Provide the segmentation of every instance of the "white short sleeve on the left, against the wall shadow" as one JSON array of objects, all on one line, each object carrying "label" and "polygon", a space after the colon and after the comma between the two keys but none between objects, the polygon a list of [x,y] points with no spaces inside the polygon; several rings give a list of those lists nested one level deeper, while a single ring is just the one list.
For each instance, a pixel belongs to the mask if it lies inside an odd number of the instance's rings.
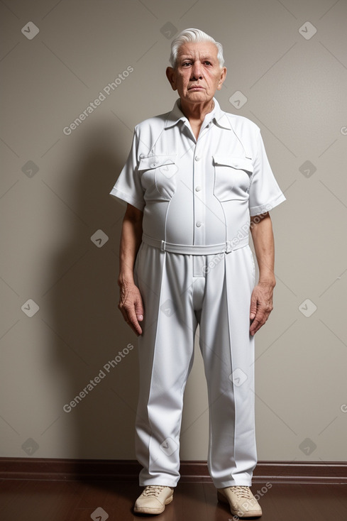
[{"label": "white short sleeve on the left, against the wall shadow", "polygon": [[116,199],[119,199],[119,202],[132,204],[133,207],[136,207],[142,212],[145,207],[145,200],[143,198],[141,178],[138,175],[137,148],[138,137],[135,129],[128,160],[110,194],[116,197]]}]

